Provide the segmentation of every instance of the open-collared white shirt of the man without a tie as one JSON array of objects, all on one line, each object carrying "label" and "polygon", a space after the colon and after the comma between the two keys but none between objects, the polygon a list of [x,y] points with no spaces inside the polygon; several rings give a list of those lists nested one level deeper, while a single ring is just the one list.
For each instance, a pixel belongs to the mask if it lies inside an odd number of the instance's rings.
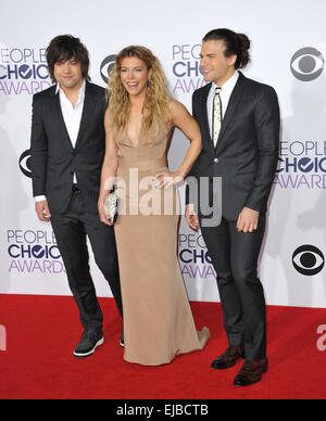
[{"label": "open-collared white shirt of the man without a tie", "polygon": [[[60,95],[61,111],[62,111],[65,127],[68,132],[73,148],[76,146],[76,142],[78,138],[82,114],[84,109],[84,101],[85,101],[85,91],[86,91],[86,81],[84,80],[82,88],[78,91],[78,101],[74,107],[71,100],[66,97],[64,91],[61,89],[60,85],[59,84],[57,85],[55,94]],[[77,183],[76,174],[74,174],[74,183]],[[41,202],[46,200],[47,197],[43,195],[35,197],[36,202]]]}]

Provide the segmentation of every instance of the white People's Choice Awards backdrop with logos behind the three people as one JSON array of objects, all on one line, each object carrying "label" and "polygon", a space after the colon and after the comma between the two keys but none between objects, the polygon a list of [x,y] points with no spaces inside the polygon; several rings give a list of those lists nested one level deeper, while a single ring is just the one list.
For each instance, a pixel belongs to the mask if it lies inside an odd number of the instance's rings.
[{"label": "white People's Choice Awards backdrop with logos behind the three people", "polygon": [[[203,85],[201,39],[227,27],[250,37],[252,63],[244,74],[272,85],[281,109],[279,167],[260,265],[266,301],[326,306],[325,0],[16,0],[0,10],[0,293],[70,294],[51,227],[36,218],[30,186],[30,105],[34,93],[51,86],[49,41],[61,34],[80,37],[92,81],[103,87],[122,48],[147,46],[160,58],[173,97],[191,111],[191,94]],[[176,131],[172,169],[187,145]],[[185,220],[179,261],[190,299],[218,301],[205,244]],[[92,257],[91,268],[98,295],[111,296]]]}]

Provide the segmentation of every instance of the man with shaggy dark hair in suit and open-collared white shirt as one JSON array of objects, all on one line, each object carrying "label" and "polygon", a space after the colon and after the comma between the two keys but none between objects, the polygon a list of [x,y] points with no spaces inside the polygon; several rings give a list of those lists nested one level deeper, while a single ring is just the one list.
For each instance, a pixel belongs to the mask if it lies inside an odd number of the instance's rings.
[{"label": "man with shaggy dark hair in suit and open-collared white shirt", "polygon": [[47,61],[57,85],[33,99],[33,191],[39,219],[51,220],[79,308],[84,334],[74,355],[87,357],[104,342],[87,237],[123,315],[114,231],[98,215],[105,152],[105,92],[89,82],[88,51],[78,38],[54,38],[47,49]]}]

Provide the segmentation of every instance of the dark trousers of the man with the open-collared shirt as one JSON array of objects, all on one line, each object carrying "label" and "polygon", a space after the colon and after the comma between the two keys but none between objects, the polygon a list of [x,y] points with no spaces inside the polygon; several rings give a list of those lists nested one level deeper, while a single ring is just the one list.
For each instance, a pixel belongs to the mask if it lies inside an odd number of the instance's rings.
[{"label": "dark trousers of the man with the open-collared shirt", "polygon": [[51,224],[82,324],[85,330],[101,331],[103,315],[90,275],[87,237],[95,260],[109,282],[118,312],[123,316],[114,229],[102,224],[98,215],[87,214],[80,193],[73,192],[68,209],[64,215],[52,215]]}]

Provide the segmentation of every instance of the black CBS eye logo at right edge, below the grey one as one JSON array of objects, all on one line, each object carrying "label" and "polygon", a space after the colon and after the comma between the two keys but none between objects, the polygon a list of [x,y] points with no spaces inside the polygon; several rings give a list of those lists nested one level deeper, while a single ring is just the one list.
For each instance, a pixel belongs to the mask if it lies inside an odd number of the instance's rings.
[{"label": "black CBS eye logo at right edge, below the grey one", "polygon": [[296,250],[292,264],[299,273],[313,277],[323,270],[325,257],[317,247],[306,244]]}]

